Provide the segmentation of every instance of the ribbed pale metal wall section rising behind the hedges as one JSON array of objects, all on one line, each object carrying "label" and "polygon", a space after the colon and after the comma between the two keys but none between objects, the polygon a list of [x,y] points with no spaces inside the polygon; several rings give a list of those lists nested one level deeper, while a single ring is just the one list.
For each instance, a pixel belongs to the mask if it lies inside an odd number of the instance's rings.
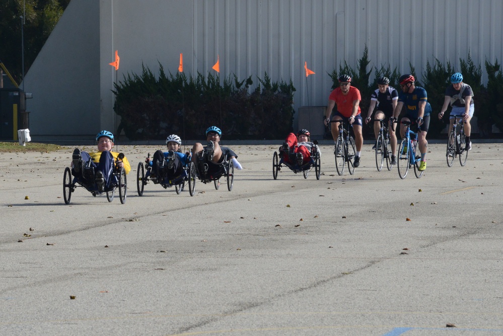
[{"label": "ribbed pale metal wall section rising behind the hedges", "polygon": [[[294,81],[296,107],[308,104],[306,85],[310,105],[325,105],[327,73],[356,69],[365,46],[370,66],[401,73],[436,58],[458,68],[469,52],[482,68],[503,59],[502,14],[501,0],[194,0],[193,65],[207,72],[220,54],[221,76],[267,72]],[[307,84],[304,61],[316,72]]]}]

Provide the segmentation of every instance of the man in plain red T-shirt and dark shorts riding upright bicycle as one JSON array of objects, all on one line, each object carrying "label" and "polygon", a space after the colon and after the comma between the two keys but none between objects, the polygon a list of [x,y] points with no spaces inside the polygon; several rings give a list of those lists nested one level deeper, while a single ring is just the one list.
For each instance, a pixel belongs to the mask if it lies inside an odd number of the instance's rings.
[{"label": "man in plain red T-shirt and dark shorts riding upright bicycle", "polygon": [[[330,93],[328,97],[327,113],[325,125],[328,125],[330,120],[340,121],[346,120],[353,125],[354,142],[356,145],[356,155],[354,157],[353,166],[360,166],[360,155],[363,145],[362,135],[362,111],[360,110],[360,101],[362,96],[360,90],[351,86],[351,77],[348,75],[339,76],[339,87]],[[337,110],[332,113],[332,109],[337,104]],[[332,122],[332,137],[334,142],[337,142],[339,137],[339,122]]]}]

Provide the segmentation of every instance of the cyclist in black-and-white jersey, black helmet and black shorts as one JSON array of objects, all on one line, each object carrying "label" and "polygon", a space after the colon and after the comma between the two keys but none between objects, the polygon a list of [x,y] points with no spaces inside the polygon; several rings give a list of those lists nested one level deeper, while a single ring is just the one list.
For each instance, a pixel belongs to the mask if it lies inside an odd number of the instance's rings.
[{"label": "cyclist in black-and-white jersey, black helmet and black shorts", "polygon": [[[391,164],[396,165],[396,133],[392,130],[391,121],[396,123],[393,117],[393,110],[395,109],[396,103],[398,101],[398,91],[395,88],[389,86],[390,80],[387,77],[379,77],[377,79],[378,89],[372,93],[370,98],[370,107],[365,123],[369,123],[372,118],[372,112],[377,104],[377,111],[374,119],[389,119],[388,122],[388,132],[390,135],[390,145],[391,145]],[[374,121],[374,133],[376,135],[376,143],[372,149],[376,149],[377,146],[377,136],[379,135],[380,124],[379,121]],[[393,125],[393,129],[396,129],[396,125]]]}]

